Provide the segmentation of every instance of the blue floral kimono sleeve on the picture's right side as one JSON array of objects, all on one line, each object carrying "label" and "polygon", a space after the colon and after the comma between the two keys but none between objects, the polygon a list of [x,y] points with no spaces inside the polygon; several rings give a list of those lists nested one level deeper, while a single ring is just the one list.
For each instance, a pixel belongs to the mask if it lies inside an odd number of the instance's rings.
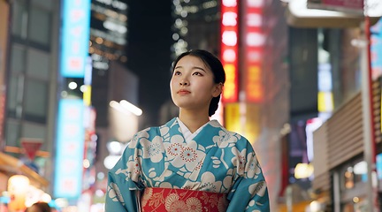
[{"label": "blue floral kimono sleeve on the picture's right side", "polygon": [[268,188],[250,144],[247,146],[247,153],[244,170],[237,173],[231,193],[228,193],[230,203],[227,211],[269,212]]}]

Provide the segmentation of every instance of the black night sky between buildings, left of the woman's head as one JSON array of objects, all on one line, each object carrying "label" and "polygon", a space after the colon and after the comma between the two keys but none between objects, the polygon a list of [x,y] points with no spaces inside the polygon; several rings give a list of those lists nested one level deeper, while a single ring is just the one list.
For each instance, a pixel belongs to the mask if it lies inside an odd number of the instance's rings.
[{"label": "black night sky between buildings, left of the woman's head", "polygon": [[159,125],[161,105],[170,99],[171,1],[128,0],[127,68],[139,77],[140,128]]}]

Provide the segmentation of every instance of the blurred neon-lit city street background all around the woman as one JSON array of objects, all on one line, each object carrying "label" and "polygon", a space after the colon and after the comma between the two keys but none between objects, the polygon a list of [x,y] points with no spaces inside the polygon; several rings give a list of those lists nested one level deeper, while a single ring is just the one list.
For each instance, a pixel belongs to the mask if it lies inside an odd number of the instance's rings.
[{"label": "blurred neon-lit city street background all around the woman", "polygon": [[381,0],[0,0],[0,212],[105,211],[134,134],[179,115],[190,49],[222,62],[210,118],[252,144],[272,212],[382,211],[381,17]]}]

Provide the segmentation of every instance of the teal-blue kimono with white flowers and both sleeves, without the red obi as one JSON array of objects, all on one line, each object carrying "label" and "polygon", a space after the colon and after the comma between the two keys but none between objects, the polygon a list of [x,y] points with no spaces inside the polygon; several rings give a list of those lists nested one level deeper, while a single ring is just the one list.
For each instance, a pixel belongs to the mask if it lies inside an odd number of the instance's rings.
[{"label": "teal-blue kimono with white flowers and both sleeves, without the red obi", "polygon": [[139,211],[145,187],[226,193],[227,211],[270,211],[268,189],[247,139],[211,120],[189,142],[177,118],[134,135],[109,171],[106,211]]}]

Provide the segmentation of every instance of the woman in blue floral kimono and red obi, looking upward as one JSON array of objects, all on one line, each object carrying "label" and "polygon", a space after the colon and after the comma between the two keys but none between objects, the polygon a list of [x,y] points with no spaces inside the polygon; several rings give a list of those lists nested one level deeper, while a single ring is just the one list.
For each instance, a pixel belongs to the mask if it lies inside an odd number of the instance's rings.
[{"label": "woman in blue floral kimono and red obi, looking upward", "polygon": [[210,120],[225,83],[218,58],[190,50],[172,72],[179,117],[134,135],[109,171],[106,211],[270,211],[251,144]]}]

